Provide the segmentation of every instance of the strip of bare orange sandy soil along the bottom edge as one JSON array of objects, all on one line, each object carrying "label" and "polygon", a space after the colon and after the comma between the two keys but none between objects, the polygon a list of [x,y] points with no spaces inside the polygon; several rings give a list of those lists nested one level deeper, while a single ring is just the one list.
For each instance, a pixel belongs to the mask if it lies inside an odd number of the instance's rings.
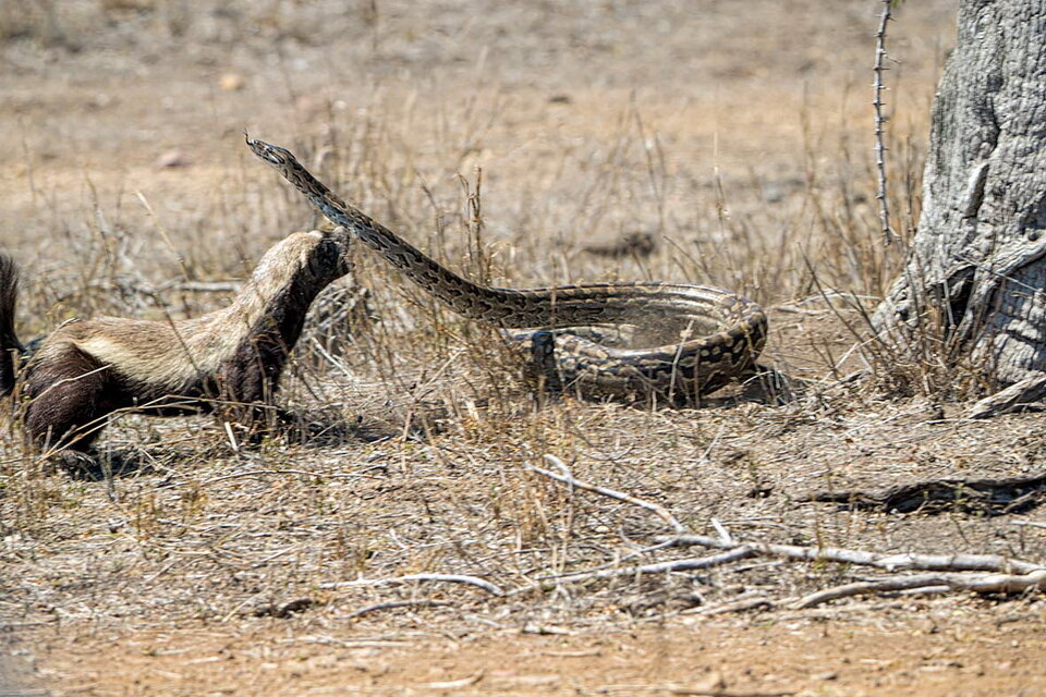
[{"label": "strip of bare orange sandy soil along the bottom edge", "polygon": [[[1041,695],[1041,610],[893,602],[874,622],[332,635],[312,623],[39,636],[57,695]],[[867,610],[866,608],[863,610]],[[860,612],[860,610],[859,610]],[[985,615],[994,615],[985,622]]]}]

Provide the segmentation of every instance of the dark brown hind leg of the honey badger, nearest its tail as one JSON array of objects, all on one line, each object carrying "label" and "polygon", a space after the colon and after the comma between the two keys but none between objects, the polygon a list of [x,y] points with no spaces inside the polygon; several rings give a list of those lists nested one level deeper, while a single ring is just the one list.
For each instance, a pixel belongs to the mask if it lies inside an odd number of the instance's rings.
[{"label": "dark brown hind leg of the honey badger, nearest its tail", "polygon": [[105,416],[110,370],[72,344],[31,363],[25,380],[25,429],[35,444],[69,469],[97,464],[90,454]]}]

